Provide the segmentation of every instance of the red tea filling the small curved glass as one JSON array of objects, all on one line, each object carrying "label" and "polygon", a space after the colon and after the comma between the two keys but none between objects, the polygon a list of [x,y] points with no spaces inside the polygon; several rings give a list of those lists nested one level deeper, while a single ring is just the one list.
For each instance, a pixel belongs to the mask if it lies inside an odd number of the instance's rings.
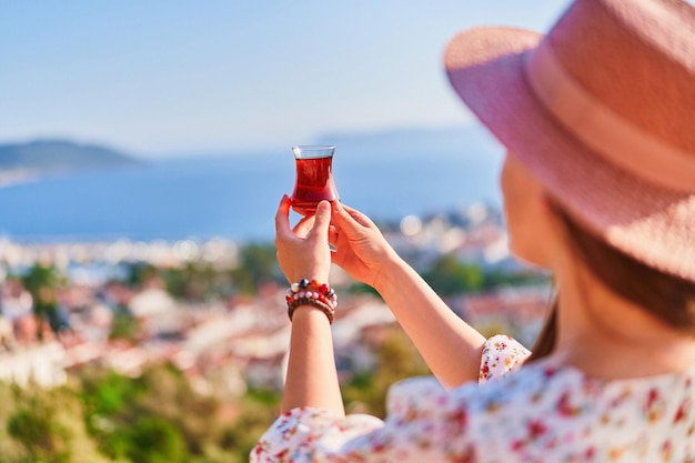
[{"label": "red tea filling the small curved glass", "polygon": [[296,181],[292,193],[292,209],[299,214],[314,213],[322,200],[338,200],[333,181],[333,158],[295,159]]}]

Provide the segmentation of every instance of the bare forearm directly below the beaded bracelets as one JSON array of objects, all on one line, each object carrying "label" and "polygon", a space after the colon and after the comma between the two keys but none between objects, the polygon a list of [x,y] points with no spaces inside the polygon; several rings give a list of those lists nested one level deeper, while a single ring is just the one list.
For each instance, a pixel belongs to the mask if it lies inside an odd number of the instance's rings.
[{"label": "bare forearm directly below the beaded bracelets", "polygon": [[290,360],[282,411],[313,406],[344,415],[331,325],[323,312],[300,306],[292,316]]}]

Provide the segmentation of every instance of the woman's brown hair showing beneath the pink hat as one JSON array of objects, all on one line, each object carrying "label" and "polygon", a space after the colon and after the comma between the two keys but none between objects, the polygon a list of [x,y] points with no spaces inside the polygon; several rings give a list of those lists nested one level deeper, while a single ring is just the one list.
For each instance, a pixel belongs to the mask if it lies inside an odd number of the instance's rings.
[{"label": "woman's brown hair showing beneath the pink hat", "polygon": [[[557,204],[553,204],[553,210],[566,230],[576,259],[611,291],[667,325],[695,336],[695,282],[659,272],[625,255],[577,225]],[[526,362],[540,360],[553,351],[557,310],[555,296]]]}]

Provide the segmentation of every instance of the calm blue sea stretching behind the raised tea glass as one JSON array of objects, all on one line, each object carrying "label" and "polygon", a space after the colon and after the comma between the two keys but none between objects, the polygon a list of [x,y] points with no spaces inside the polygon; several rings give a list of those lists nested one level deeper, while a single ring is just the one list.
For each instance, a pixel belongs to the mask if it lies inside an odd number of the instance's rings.
[{"label": "calm blue sea stretching behind the raised tea glass", "polygon": [[[473,202],[498,205],[501,154],[474,151],[353,155],[339,148],[333,172],[341,200],[376,221]],[[273,239],[278,202],[293,182],[289,149],[66,174],[0,188],[0,235],[20,242],[265,242]]]}]

